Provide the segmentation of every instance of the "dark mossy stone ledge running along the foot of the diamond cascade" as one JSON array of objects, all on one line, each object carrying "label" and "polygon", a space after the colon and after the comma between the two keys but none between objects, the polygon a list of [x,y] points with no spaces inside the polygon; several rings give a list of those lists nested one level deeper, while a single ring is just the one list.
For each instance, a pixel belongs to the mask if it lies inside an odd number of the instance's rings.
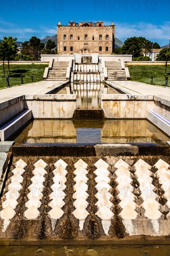
[{"label": "dark mossy stone ledge running along the foot of the diamond cascade", "polygon": [[159,238],[143,238],[137,236],[135,238],[109,238],[109,239],[0,239],[0,246],[27,246],[27,245],[170,245],[170,239],[159,237]]}]

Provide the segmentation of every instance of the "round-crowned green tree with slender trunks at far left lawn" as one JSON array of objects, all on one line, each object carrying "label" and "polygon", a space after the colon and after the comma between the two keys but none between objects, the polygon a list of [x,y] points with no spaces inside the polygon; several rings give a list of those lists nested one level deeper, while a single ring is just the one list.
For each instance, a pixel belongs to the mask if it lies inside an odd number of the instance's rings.
[{"label": "round-crowned green tree with slender trunks at far left lawn", "polygon": [[3,37],[3,40],[1,42],[0,56],[2,56],[3,58],[3,64],[5,59],[8,61],[8,74],[10,74],[9,61],[15,58],[15,55],[17,54],[18,51],[16,40],[16,37],[13,38],[12,36],[9,36],[8,38]]}]

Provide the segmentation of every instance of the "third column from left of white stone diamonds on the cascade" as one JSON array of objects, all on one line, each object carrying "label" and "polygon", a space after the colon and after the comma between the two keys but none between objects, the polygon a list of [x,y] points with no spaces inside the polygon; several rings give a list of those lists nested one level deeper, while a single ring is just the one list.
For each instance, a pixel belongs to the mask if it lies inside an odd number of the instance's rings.
[{"label": "third column from left of white stone diamonds on the cascade", "polygon": [[54,167],[55,169],[52,171],[52,181],[54,183],[51,186],[53,192],[49,195],[49,198],[52,199],[52,201],[48,204],[52,208],[48,212],[48,216],[52,222],[52,230],[55,229],[57,220],[64,214],[64,211],[61,208],[65,205],[63,200],[65,198],[65,183],[67,181],[65,177],[67,175],[67,170],[65,169],[67,167],[67,163],[62,159],[59,159],[54,163]]}]

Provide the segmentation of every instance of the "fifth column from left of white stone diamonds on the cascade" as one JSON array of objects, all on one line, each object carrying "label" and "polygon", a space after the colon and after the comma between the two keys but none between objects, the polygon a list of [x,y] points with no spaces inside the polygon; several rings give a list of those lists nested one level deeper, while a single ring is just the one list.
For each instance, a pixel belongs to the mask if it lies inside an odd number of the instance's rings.
[{"label": "fifth column from left of white stone diamonds on the cascade", "polygon": [[98,199],[98,202],[95,204],[98,208],[96,215],[101,219],[104,232],[108,235],[111,219],[113,219],[114,216],[111,211],[113,208],[113,203],[111,202],[113,196],[110,193],[112,188],[109,185],[111,182],[109,178],[111,173],[107,170],[110,166],[102,159],[99,159],[94,166],[97,167],[94,173],[96,175],[95,182],[97,183],[95,188],[98,190],[95,195]]}]

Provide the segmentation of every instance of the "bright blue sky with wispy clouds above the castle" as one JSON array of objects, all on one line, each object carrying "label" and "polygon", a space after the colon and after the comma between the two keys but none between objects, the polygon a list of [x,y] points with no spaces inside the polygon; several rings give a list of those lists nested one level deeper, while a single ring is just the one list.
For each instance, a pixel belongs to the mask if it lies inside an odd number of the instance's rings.
[{"label": "bright blue sky with wispy clouds above the castle", "polygon": [[56,25],[68,20],[103,20],[116,25],[116,37],[125,40],[143,36],[161,46],[169,44],[169,0],[1,0],[0,39],[12,35],[18,40],[44,38],[57,33]]}]

